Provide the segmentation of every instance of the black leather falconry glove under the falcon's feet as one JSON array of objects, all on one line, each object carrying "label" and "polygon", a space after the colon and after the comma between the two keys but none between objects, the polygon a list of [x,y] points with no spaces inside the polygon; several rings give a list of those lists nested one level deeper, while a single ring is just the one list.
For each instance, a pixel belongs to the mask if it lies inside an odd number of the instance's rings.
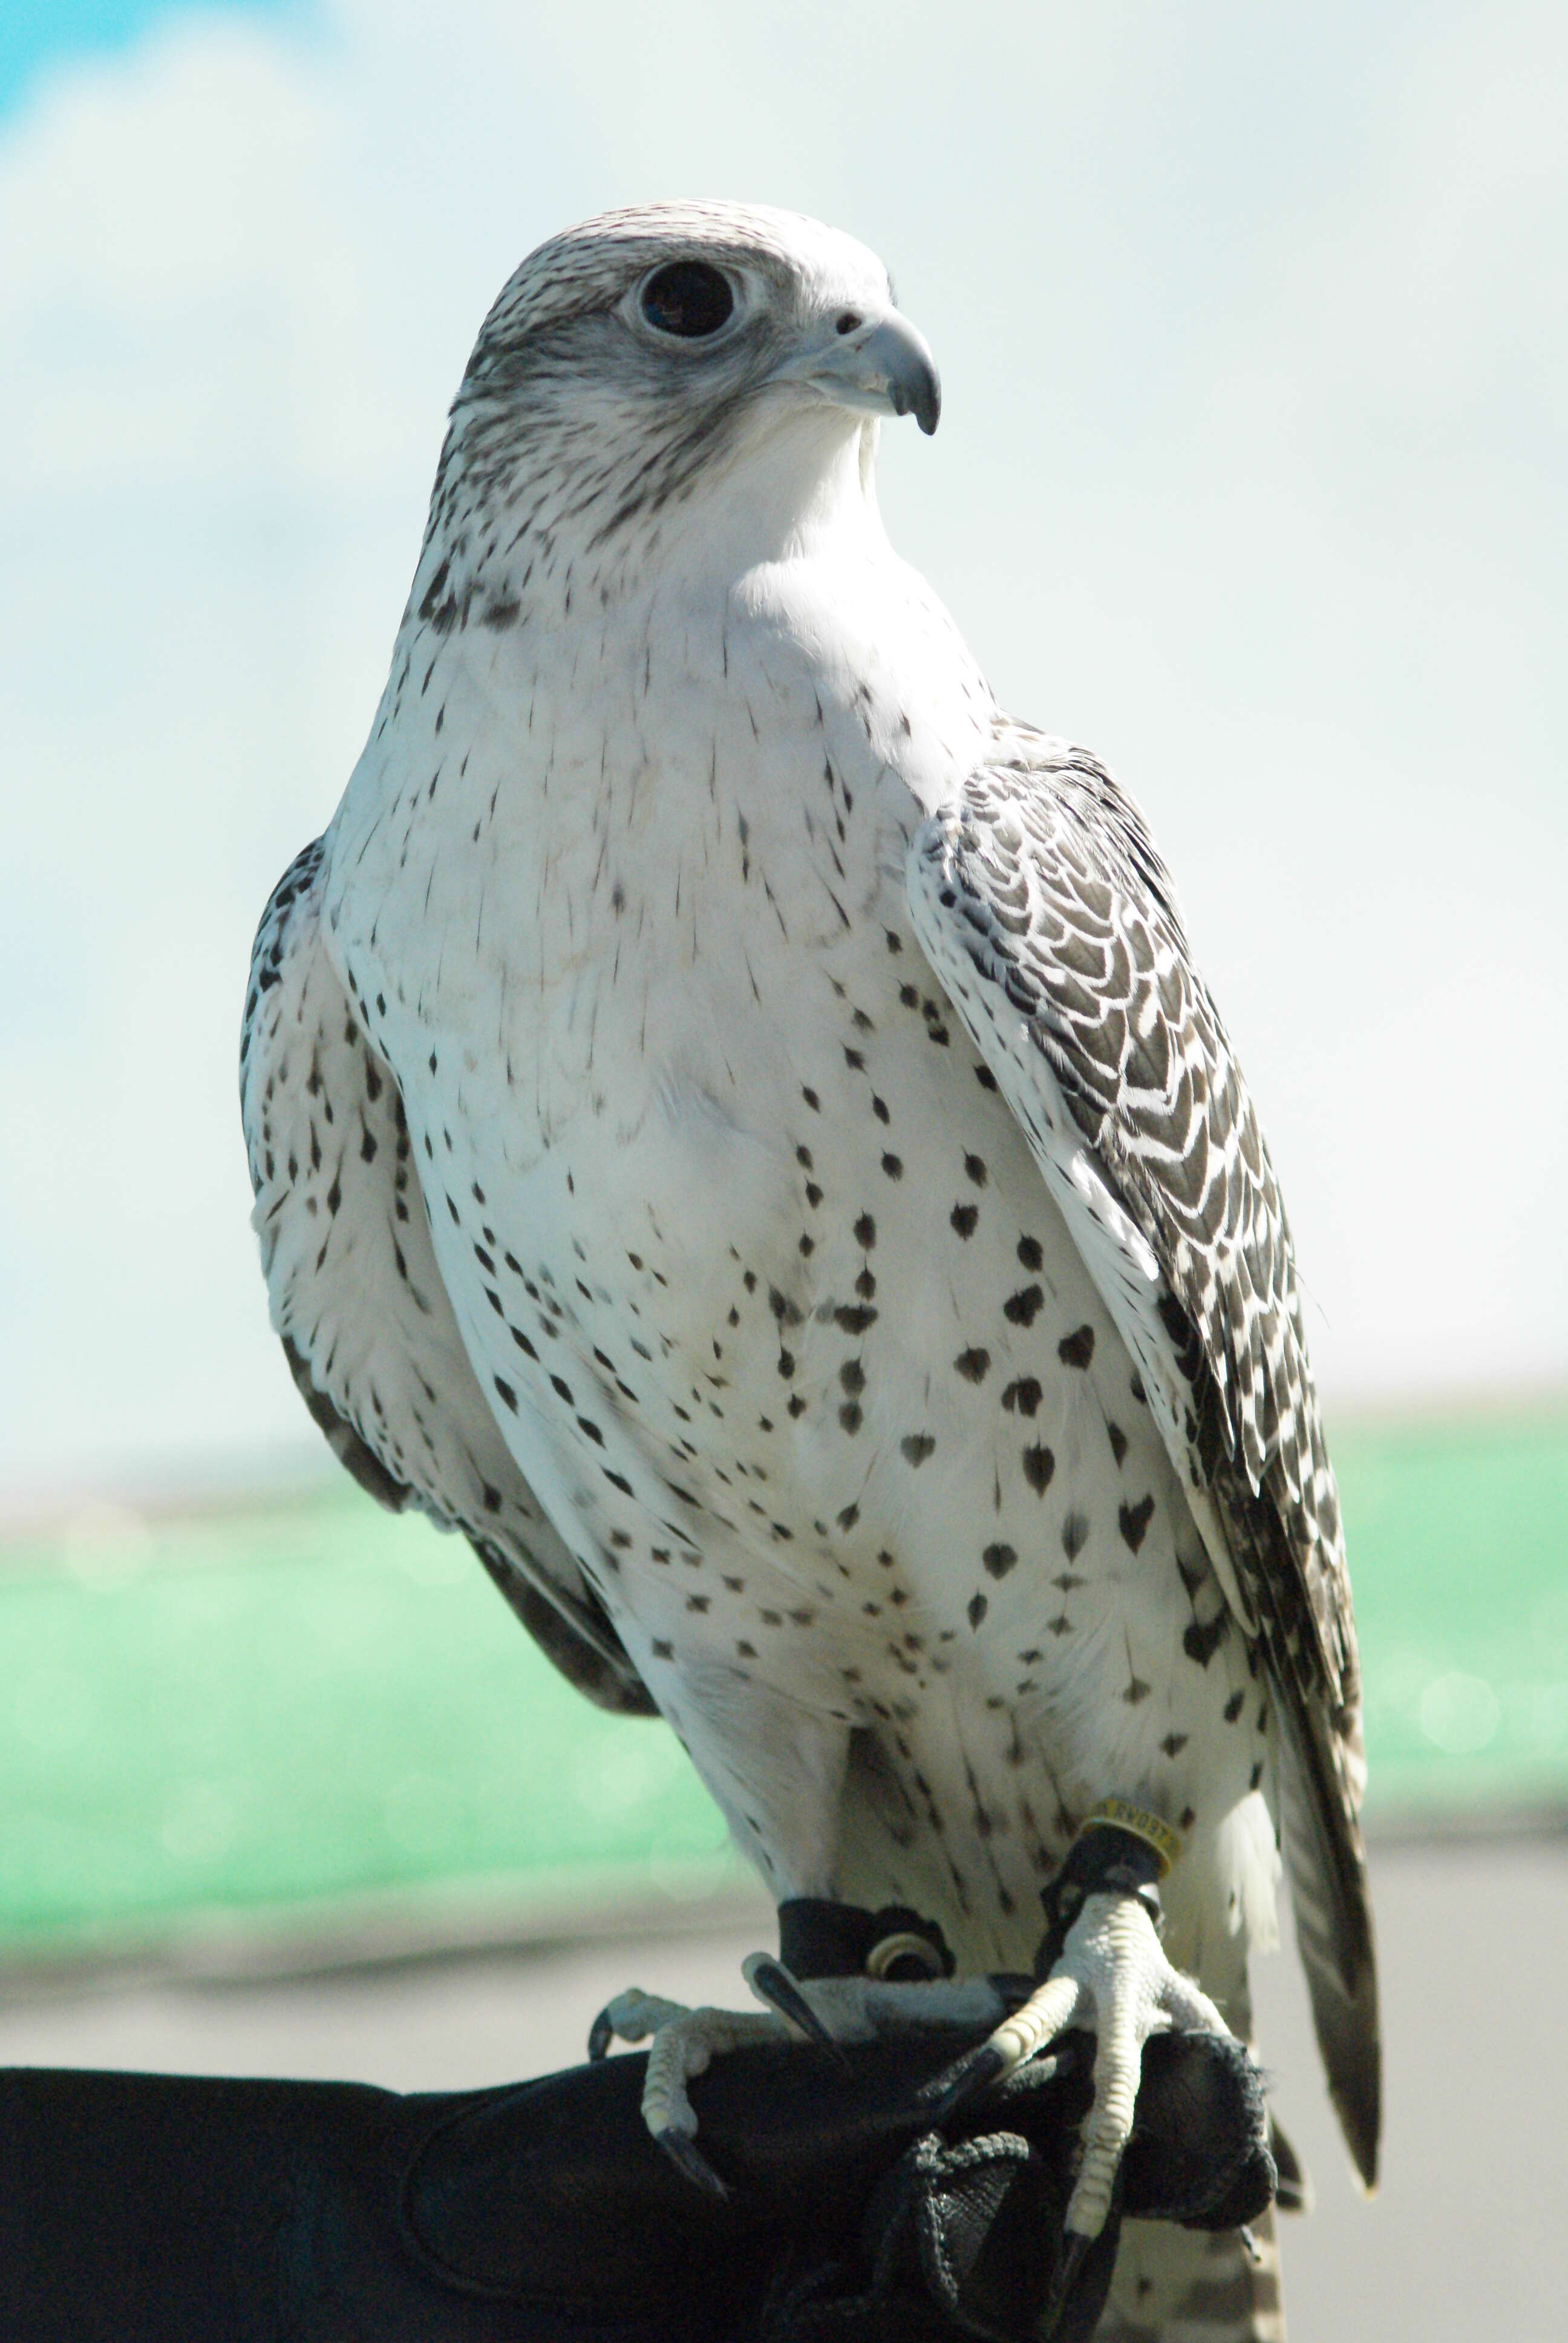
[{"label": "black leather falconry glove under the falcon's feet", "polygon": [[[776,2045],[694,2085],[720,2205],[640,2116],[642,2057],[516,2088],[0,2074],[5,2343],[795,2343],[1038,2336],[1092,2043],[968,2109],[973,2036]],[[1088,2336],[1120,2214],[1228,2228],[1273,2193],[1247,2055],[1144,2052],[1118,2205],[1059,2308]]]}]

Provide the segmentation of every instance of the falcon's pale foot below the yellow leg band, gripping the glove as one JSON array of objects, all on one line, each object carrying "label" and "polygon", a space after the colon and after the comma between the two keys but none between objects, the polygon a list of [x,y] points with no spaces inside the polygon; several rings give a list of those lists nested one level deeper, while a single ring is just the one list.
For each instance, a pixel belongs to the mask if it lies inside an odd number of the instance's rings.
[{"label": "falcon's pale foot below the yellow leg band, gripping the glove", "polygon": [[1069,2027],[1097,2036],[1095,2104],[1066,2207],[1069,2240],[1088,2242],[1106,2224],[1151,2034],[1230,2034],[1209,1996],[1165,1959],[1155,1933],[1155,1879],[1170,1867],[1174,1844],[1172,1832],[1153,1816],[1120,1804],[1113,1821],[1090,1818],[1045,1893],[1052,1924],[1041,1947],[1045,1982],[989,2041],[949,2069],[935,2102],[935,2116],[945,2123]]}]

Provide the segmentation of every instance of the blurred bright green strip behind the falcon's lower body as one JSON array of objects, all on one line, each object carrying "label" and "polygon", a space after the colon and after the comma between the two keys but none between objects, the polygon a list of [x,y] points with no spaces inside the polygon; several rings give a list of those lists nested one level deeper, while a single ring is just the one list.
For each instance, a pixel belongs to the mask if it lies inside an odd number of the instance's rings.
[{"label": "blurred bright green strip behind the falcon's lower body", "polygon": [[[1568,1413],[1336,1439],[1371,1825],[1568,1806]],[[0,1954],[527,1935],[738,1867],[452,1537],[347,1483],[0,1546]],[[227,1938],[225,1938],[227,1931]]]}]

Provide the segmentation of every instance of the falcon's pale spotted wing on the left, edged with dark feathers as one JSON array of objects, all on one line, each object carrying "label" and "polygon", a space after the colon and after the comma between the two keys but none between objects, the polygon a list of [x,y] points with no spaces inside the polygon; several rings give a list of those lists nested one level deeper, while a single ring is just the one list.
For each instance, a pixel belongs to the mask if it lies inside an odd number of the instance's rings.
[{"label": "falcon's pale spotted wing on the left, edged with dark feathers", "polygon": [[239,1045],[251,1218],[293,1380],[361,1488],[469,1537],[579,1692],[656,1715],[485,1406],[436,1268],[403,1101],[321,944],[319,879],[321,841],[263,914]]}]

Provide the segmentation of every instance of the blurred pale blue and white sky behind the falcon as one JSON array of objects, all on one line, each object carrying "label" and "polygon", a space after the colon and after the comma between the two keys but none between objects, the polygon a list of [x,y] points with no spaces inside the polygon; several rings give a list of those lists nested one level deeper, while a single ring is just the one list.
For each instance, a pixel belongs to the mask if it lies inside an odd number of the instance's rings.
[{"label": "blurred pale blue and white sky behind the falcon", "polygon": [[900,548],[1174,862],[1331,1415],[1561,1385],[1568,19],[1488,0],[0,12],[0,1502],[255,1474],[251,933],[551,230],[818,213]]}]

